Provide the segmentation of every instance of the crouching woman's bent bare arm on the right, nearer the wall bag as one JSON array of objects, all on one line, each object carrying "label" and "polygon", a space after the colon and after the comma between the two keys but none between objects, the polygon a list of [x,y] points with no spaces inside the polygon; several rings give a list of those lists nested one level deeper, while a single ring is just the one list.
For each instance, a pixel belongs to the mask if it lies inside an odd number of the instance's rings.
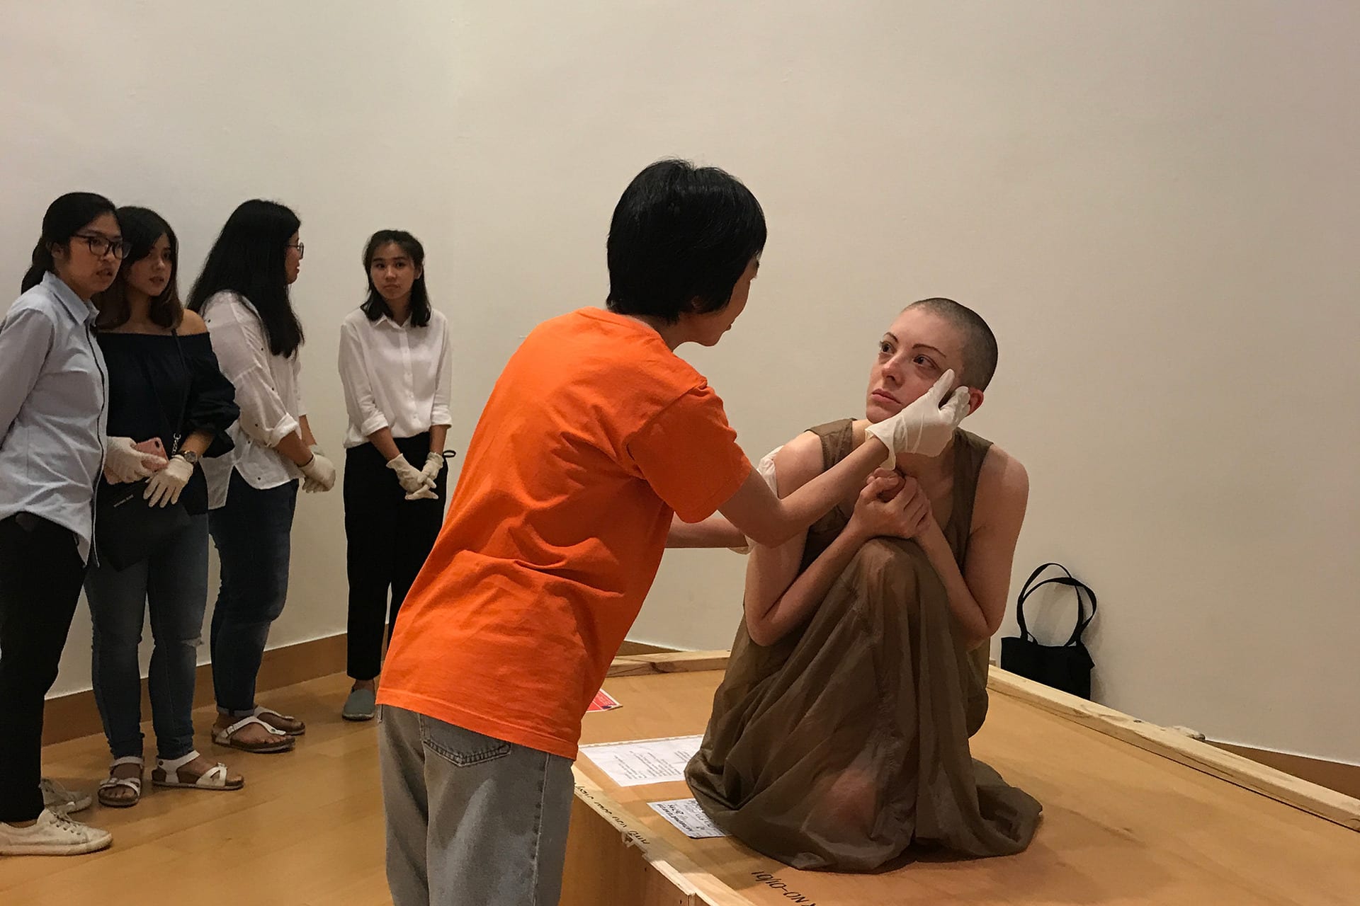
[{"label": "crouching woman's bent bare arm on the right, nearer the wall bag", "polygon": [[1010,566],[1030,500],[1030,475],[1017,459],[993,447],[982,463],[975,500],[963,572],[933,516],[928,531],[917,538],[949,592],[949,610],[970,648],[991,638],[1005,617]]}]

